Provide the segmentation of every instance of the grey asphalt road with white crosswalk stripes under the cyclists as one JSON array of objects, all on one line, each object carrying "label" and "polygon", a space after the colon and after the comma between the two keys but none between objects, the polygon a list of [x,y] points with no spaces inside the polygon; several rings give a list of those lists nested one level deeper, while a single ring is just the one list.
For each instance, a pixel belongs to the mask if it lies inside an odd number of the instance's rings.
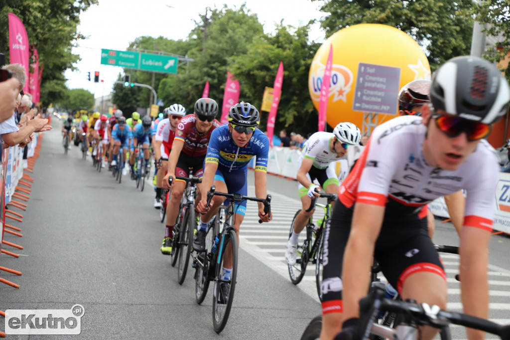
[{"label": "grey asphalt road with white crosswalk stripes under the cyclists", "polygon": [[[23,250],[4,249],[0,265],[21,271],[0,277],[20,285],[0,286],[0,309],[85,309],[80,335],[8,335],[9,339],[296,339],[308,322],[320,314],[314,269],[299,285],[288,277],[284,261],[290,221],[299,207],[296,182],[268,176],[273,195],[274,220],[259,225],[248,205],[241,226],[239,270],[231,316],[221,334],[212,326],[212,290],[197,305],[190,270],[182,286],[170,257],[159,247],[164,226],[152,207],[154,189],[136,189],[128,176],[118,184],[110,172],[98,173],[92,160],[82,160],[73,147],[64,156],[60,124],[45,132],[37,159],[28,210],[23,222],[7,222],[22,229],[23,237],[5,239]],[[249,193],[253,174],[248,173]],[[435,241],[456,245],[449,223],[436,221]],[[510,239],[494,236],[491,242],[491,319],[506,323],[510,315]],[[460,310],[458,261],[447,255],[449,308]],[[191,273],[191,274],[190,274]],[[212,285],[211,285],[212,286]],[[0,319],[0,329],[4,325]],[[455,339],[463,330],[452,329]]]}]

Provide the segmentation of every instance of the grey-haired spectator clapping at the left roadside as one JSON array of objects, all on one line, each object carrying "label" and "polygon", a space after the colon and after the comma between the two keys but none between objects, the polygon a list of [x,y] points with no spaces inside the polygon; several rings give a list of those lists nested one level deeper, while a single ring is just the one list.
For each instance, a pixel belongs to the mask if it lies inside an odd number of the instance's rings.
[{"label": "grey-haired spectator clapping at the left roadside", "polygon": [[[11,71],[12,77],[16,78],[19,82],[18,92],[21,92],[27,77],[25,76],[25,69],[19,64],[9,64],[2,67]],[[27,120],[27,123],[18,128],[15,122],[14,112],[7,120],[0,123],[0,142],[4,149],[13,147],[16,144],[20,144],[24,147],[27,143],[32,140],[32,134],[34,132],[48,131],[52,129],[51,126],[47,125],[48,120],[42,119],[38,115],[32,120]]]}]

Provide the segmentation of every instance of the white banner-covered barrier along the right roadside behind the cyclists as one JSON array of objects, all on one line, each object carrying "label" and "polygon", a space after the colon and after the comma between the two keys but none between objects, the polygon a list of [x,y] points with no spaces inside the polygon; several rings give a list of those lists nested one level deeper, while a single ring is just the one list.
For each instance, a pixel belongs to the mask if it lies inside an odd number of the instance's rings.
[{"label": "white banner-covered barrier along the right roadside behind the cyclists", "polygon": [[[349,173],[349,165],[354,159],[358,159],[364,147],[349,147],[347,160],[337,162],[336,169],[340,182]],[[300,150],[284,147],[272,147],[269,149],[267,172],[270,174],[296,179]],[[253,167],[253,160],[250,167]],[[297,193],[297,190],[296,190]],[[439,217],[449,218],[448,209],[441,197],[429,204],[432,213]],[[510,174],[500,173],[498,185],[494,193],[494,225],[493,229],[510,234]]]}]

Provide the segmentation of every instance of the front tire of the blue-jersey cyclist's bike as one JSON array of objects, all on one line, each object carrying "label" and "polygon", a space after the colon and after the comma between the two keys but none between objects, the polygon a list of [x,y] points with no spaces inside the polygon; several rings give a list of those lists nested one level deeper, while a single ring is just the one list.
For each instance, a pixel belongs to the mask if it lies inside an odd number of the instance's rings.
[{"label": "front tire of the blue-jersey cyclist's bike", "polygon": [[[220,240],[221,242],[221,240]],[[218,318],[217,311],[218,306],[218,298],[220,294],[220,285],[218,283],[218,279],[221,275],[221,267],[223,263],[223,257],[225,256],[225,249],[228,246],[229,242],[232,242],[232,274],[230,277],[230,292],[228,292],[228,301],[226,303],[224,312],[222,317]],[[237,236],[234,230],[228,230],[224,234],[223,241],[223,251],[221,252],[221,259],[217,264],[216,268],[216,281],[215,281],[215,293],[213,294],[213,326],[216,333],[221,333],[221,331],[225,328],[225,325],[228,321],[228,317],[230,315],[230,311],[232,309],[232,303],[234,301],[234,293],[236,290],[236,279],[237,279],[237,261],[238,261],[238,249],[237,249]],[[216,298],[215,298],[216,296]]]}]

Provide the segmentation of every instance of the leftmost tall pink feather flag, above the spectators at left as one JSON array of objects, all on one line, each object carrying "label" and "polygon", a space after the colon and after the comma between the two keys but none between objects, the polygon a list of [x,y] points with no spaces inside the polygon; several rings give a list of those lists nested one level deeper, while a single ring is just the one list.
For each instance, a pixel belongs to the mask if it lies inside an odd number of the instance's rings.
[{"label": "leftmost tall pink feather flag, above the spectators at left", "polygon": [[25,68],[27,82],[23,87],[24,92],[29,91],[29,37],[23,22],[12,13],[9,13],[9,55],[11,64],[20,64]]}]

